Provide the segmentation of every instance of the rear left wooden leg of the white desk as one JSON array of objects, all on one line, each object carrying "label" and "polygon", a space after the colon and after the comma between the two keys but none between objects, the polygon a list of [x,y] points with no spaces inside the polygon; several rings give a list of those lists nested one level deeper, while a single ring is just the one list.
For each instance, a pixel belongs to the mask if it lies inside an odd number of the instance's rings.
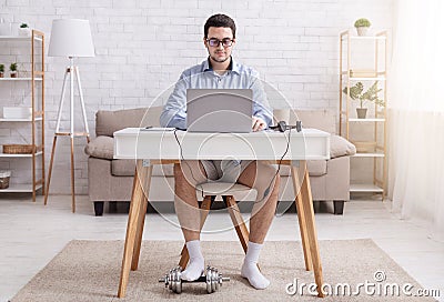
[{"label": "rear left wooden leg of the white desk", "polygon": [[[141,164],[141,162],[138,162],[138,164]],[[140,248],[142,246],[143,226],[144,226],[144,222],[145,222],[147,208],[148,208],[148,202],[149,202],[152,168],[153,168],[152,164],[150,164],[149,167],[139,167],[138,168],[139,179],[142,183],[142,188],[143,188],[143,192],[144,192],[144,200],[141,205],[141,211],[139,212],[138,231],[135,234],[135,245],[134,245],[134,251],[132,254],[132,263],[131,263],[132,271],[135,271],[139,266]]]}]

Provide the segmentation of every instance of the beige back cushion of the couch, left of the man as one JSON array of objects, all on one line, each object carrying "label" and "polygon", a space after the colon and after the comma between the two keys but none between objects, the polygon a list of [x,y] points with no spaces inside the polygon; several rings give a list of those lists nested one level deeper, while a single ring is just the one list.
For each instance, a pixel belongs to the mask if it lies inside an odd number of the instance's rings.
[{"label": "beige back cushion of the couch, left of the man", "polygon": [[99,110],[95,113],[95,135],[112,134],[129,127],[159,127],[162,107],[135,108],[123,110]]}]

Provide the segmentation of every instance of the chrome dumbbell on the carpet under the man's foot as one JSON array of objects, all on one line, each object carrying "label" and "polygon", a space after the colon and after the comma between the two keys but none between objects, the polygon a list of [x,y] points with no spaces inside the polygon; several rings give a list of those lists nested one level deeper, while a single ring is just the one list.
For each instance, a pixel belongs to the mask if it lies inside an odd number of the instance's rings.
[{"label": "chrome dumbbell on the carpet under the man's foot", "polygon": [[165,283],[165,288],[175,293],[182,292],[182,283],[206,283],[206,292],[213,293],[222,286],[223,281],[230,281],[229,276],[222,276],[221,273],[218,272],[218,269],[206,266],[206,274],[201,275],[198,280],[188,281],[182,280],[182,268],[176,266],[175,269],[170,270],[170,272],[164,276],[159,279],[159,282]]}]

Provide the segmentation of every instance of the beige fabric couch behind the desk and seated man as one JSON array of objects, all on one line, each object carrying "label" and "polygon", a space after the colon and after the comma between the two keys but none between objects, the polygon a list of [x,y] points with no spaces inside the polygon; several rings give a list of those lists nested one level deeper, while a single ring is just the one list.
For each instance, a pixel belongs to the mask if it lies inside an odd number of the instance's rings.
[{"label": "beige fabric couch behind the desk and seated man", "polygon": [[[95,114],[95,134],[87,145],[89,177],[89,198],[94,202],[95,215],[103,214],[105,201],[130,201],[134,174],[133,160],[113,160],[114,131],[127,127],[159,127],[161,107],[127,109],[118,111],[98,111]],[[145,114],[147,112],[147,114]],[[294,124],[296,117],[293,111],[276,111],[276,114]],[[289,114],[291,112],[291,114]],[[282,114],[284,113],[284,114]],[[285,114],[286,113],[286,114]],[[299,111],[303,127],[316,128],[335,133],[335,120],[324,110]],[[325,161],[309,161],[310,182],[313,200],[333,201],[334,213],[342,214],[344,201],[350,199],[350,154],[355,148],[341,137],[331,138],[331,157]],[[289,178],[287,167],[281,167],[280,201],[290,204],[294,200],[293,185]],[[172,165],[158,165],[153,169],[150,201],[172,202],[174,199],[174,178]],[[254,194],[239,197],[242,200],[254,200]]]}]

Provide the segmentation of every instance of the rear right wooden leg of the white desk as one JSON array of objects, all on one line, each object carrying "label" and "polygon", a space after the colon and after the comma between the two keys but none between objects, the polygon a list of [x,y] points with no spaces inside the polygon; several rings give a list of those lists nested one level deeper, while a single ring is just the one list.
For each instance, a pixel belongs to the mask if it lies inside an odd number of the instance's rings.
[{"label": "rear right wooden leg of the white desk", "polygon": [[[305,261],[305,270],[311,271],[313,269],[313,263],[312,263],[312,258],[310,254],[310,242],[307,240],[307,233],[306,233],[306,220],[305,220],[305,212],[304,212],[304,205],[302,203],[302,194],[301,194],[301,179],[303,180],[303,174],[300,177],[297,170],[294,165],[291,165],[291,175],[292,175],[292,181],[293,181],[293,190],[294,190],[294,195],[295,200],[294,202],[296,203],[296,210],[297,210],[297,220],[299,220],[299,229],[301,232],[301,241],[302,241],[302,250],[304,252],[304,261]],[[303,171],[302,171],[303,172]]]}]

